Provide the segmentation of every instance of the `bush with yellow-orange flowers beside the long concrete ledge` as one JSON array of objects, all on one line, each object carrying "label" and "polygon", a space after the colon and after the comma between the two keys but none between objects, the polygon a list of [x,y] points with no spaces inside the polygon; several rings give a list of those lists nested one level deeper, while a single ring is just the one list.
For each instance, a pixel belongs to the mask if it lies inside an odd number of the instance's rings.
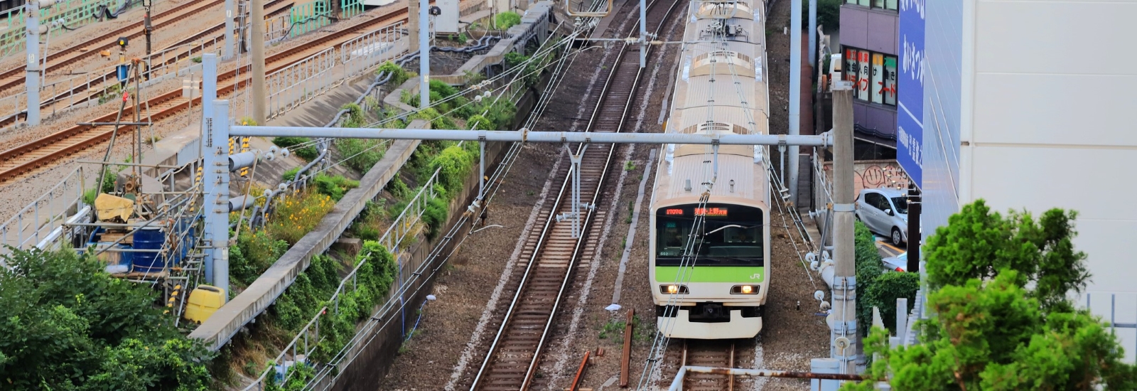
[{"label": "bush with yellow-orange flowers beside the long concrete ledge", "polygon": [[276,203],[265,230],[273,239],[296,244],[334,207],[330,197],[314,191],[285,196]]}]

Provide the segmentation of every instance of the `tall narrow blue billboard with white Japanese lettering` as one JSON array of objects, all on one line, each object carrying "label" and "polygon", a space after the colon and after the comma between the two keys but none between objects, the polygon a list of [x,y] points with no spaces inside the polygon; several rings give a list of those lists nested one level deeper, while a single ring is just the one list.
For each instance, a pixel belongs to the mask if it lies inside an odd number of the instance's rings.
[{"label": "tall narrow blue billboard with white Japanese lettering", "polygon": [[896,82],[896,160],[916,186],[923,178],[924,0],[901,0]]}]

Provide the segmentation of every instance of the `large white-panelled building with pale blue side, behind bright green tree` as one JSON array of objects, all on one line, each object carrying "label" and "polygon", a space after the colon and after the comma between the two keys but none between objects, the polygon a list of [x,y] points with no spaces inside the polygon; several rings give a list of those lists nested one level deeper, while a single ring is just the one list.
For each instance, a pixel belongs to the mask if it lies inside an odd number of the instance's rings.
[{"label": "large white-panelled building with pale blue side, behind bright green tree", "polygon": [[[902,2],[926,17],[922,235],[977,199],[1077,210],[1093,274],[1079,302],[1137,323],[1137,53],[1121,49],[1137,0]],[[1132,361],[1137,328],[1115,332]]]}]

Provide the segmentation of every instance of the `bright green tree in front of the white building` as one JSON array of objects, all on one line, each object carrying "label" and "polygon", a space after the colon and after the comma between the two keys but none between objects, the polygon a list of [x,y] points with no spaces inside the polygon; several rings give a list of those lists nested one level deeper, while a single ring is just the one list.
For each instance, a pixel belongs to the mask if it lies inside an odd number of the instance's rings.
[{"label": "bright green tree in front of the white building", "polygon": [[[865,352],[879,355],[869,381],[845,390],[1134,390],[1137,369],[1105,324],[1067,299],[1088,278],[1071,243],[1073,211],[991,214],[980,200],[928,240],[932,317],[916,325],[922,344],[888,347],[874,328]],[[1056,265],[1067,267],[1059,271]],[[969,272],[970,269],[970,272]]]}]

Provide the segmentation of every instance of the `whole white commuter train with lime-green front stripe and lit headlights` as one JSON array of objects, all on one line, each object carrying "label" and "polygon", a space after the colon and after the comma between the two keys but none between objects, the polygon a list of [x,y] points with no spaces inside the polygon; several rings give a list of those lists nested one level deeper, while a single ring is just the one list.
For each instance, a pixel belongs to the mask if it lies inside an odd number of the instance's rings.
[{"label": "whole white commuter train with lime-green front stripe and lit headlights", "polygon": [[[691,0],[665,132],[769,134],[764,5]],[[650,285],[670,338],[754,338],[770,284],[766,147],[669,144],[650,205]]]}]

